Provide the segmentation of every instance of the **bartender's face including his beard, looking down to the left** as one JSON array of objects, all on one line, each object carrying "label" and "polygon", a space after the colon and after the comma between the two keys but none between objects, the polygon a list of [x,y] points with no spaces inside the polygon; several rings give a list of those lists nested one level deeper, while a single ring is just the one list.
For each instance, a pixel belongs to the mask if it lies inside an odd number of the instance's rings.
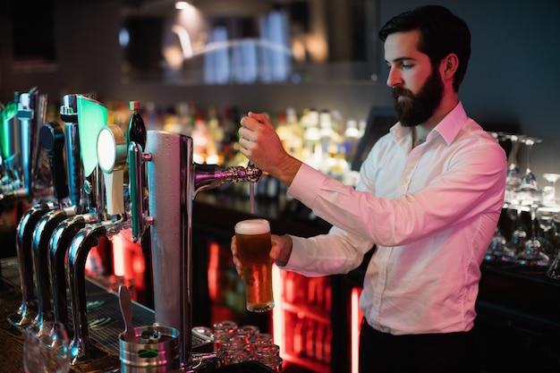
[{"label": "bartender's face including his beard, looking down to the left", "polygon": [[443,97],[443,82],[428,55],[418,49],[420,31],[397,32],[386,38],[387,85],[393,88],[395,114],[403,126],[425,123]]}]

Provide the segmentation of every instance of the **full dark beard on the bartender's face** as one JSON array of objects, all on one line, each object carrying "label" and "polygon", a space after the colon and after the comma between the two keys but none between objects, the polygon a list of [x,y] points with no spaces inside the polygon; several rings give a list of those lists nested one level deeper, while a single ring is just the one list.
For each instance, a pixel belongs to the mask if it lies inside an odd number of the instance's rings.
[{"label": "full dark beard on the bartender's face", "polygon": [[[444,84],[437,74],[437,69],[432,69],[428,79],[417,94],[410,89],[402,87],[393,88],[395,99],[396,119],[404,127],[413,127],[425,123],[434,114],[443,97]],[[399,100],[399,96],[404,99]]]}]

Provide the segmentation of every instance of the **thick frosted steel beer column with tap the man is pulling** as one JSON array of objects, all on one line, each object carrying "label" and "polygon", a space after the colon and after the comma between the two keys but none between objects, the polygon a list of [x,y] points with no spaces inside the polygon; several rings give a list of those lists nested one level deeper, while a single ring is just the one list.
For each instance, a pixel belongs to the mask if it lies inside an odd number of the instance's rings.
[{"label": "thick frosted steel beer column with tap the man is pulling", "polygon": [[[192,159],[192,139],[177,133],[148,131],[146,153],[134,141],[129,145],[132,235],[138,240],[150,228],[156,323],[179,330],[182,368],[193,363],[192,201],[199,191],[225,182],[257,182],[261,176],[254,166],[224,168],[199,165]],[[148,211],[140,192],[144,191],[144,163]]]}]

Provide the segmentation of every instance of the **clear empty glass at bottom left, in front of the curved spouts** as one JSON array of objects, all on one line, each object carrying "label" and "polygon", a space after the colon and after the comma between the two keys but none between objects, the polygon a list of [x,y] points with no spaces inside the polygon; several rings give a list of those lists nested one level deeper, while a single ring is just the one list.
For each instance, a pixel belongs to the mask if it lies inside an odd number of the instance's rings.
[{"label": "clear empty glass at bottom left, in front of the curved spouts", "polygon": [[[46,325],[47,324],[47,325]],[[67,373],[70,370],[70,349],[64,324],[44,321],[25,328],[23,341],[25,373]]]}]

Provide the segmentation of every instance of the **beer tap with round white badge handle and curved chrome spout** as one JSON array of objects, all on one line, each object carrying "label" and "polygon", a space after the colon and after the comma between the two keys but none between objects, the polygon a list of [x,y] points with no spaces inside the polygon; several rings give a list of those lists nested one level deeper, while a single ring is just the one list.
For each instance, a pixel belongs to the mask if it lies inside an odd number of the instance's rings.
[{"label": "beer tap with round white badge handle and curved chrome spout", "polygon": [[72,365],[106,356],[89,339],[86,312],[85,267],[89,250],[98,245],[102,237],[111,237],[130,228],[123,201],[123,169],[126,165],[126,139],[121,128],[107,125],[98,132],[98,166],[103,171],[106,186],[106,213],[111,219],[85,225],[72,239],[68,252],[68,283],[72,301],[74,336],[71,343]]}]

